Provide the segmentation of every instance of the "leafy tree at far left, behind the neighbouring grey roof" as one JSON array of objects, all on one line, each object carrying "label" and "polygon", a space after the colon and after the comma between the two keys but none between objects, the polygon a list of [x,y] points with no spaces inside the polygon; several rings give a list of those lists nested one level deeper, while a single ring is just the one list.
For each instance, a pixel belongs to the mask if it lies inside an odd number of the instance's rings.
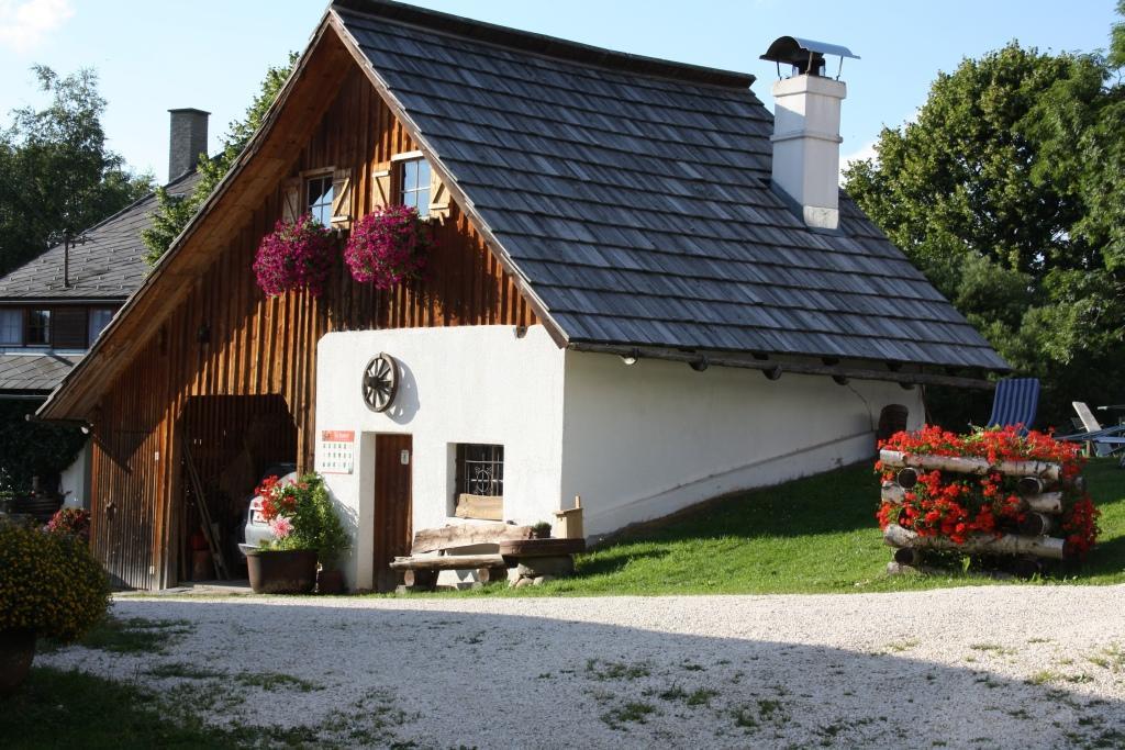
[{"label": "leafy tree at far left, behind the neighbouring grey roof", "polygon": [[120,210],[152,182],[106,147],[97,73],[60,78],[50,67],[33,70],[51,103],[14,110],[11,125],[0,130],[0,274],[63,233],[78,234]]}]

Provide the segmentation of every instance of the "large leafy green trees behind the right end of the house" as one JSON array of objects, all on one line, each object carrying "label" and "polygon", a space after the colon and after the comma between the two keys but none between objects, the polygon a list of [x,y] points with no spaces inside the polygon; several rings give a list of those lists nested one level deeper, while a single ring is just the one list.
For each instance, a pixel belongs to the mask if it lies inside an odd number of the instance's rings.
[{"label": "large leafy green trees behind the right end of the house", "polygon": [[[1012,42],[964,60],[845,171],[888,237],[1017,373],[1041,378],[1041,426],[1065,428],[1071,400],[1125,401],[1122,61],[1120,24],[1108,57]],[[962,395],[930,403],[948,426],[988,416]]]}]

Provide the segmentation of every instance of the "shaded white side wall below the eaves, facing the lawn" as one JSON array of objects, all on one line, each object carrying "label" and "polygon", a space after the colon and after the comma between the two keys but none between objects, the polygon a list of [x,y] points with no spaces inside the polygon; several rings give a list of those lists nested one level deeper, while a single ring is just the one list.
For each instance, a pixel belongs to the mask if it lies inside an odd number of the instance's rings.
[{"label": "shaded white side wall below the eaves, facing the lawn", "polygon": [[566,355],[565,403],[562,497],[582,496],[587,536],[873,457],[888,404],[924,421],[920,390],[896,383],[586,352]]}]

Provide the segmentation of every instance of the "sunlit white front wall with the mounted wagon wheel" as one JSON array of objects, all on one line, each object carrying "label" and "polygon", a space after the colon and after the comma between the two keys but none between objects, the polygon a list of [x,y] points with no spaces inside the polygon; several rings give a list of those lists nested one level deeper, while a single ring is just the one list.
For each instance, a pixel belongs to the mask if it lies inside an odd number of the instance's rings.
[{"label": "sunlit white front wall with the mounted wagon wheel", "polygon": [[[367,408],[360,378],[386,352],[399,362],[393,407]],[[554,521],[561,481],[564,351],[542,326],[516,337],[513,326],[466,326],[332,333],[317,347],[316,430],[354,431],[354,470],[327,473],[352,523],[357,588],[372,584],[375,436],[413,436],[413,526],[458,522],[452,513],[451,445],[504,446],[504,515],[516,523]],[[320,445],[317,446],[320,451]],[[317,464],[321,463],[320,455]]]}]

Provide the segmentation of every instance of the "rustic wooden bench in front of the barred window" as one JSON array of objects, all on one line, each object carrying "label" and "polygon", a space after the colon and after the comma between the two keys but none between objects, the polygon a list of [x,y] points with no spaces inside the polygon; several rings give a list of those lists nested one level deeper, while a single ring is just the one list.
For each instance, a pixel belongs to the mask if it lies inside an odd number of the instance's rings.
[{"label": "rustic wooden bench in front of the barred window", "polygon": [[[500,553],[502,542],[531,539],[531,526],[514,524],[458,524],[440,528],[423,528],[414,535],[408,558],[395,558],[392,570],[403,573],[403,585],[396,590],[432,591],[442,570],[472,570],[477,584],[507,579],[507,562]],[[493,545],[495,552],[474,549],[458,554],[459,549]]]}]

